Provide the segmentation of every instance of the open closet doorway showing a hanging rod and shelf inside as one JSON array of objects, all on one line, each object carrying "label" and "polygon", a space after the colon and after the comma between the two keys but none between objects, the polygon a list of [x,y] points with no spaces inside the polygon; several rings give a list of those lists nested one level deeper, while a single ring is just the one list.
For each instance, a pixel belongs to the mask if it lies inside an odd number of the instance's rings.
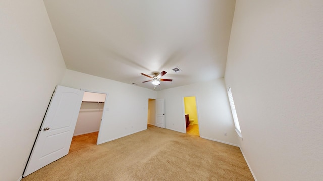
[{"label": "open closet doorway showing a hanging rod and shelf inside", "polygon": [[106,93],[84,92],[69,153],[98,143]]}]

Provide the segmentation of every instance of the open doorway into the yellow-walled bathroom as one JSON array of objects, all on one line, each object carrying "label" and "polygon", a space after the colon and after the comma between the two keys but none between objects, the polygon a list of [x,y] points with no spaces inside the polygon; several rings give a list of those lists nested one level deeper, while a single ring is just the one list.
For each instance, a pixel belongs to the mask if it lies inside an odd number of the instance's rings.
[{"label": "open doorway into the yellow-walled bathroom", "polygon": [[200,136],[196,96],[184,97],[186,134]]}]

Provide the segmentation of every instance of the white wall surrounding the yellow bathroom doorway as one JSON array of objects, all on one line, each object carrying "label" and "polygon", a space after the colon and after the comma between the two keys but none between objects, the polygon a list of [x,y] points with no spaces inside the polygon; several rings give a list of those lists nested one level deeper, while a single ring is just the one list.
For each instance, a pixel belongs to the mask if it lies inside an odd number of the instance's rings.
[{"label": "white wall surrounding the yellow bathroom doorway", "polygon": [[[165,98],[165,127],[186,132],[184,97],[196,96],[199,131],[203,138],[237,145],[224,79],[158,91]],[[224,136],[224,132],[227,136]]]}]

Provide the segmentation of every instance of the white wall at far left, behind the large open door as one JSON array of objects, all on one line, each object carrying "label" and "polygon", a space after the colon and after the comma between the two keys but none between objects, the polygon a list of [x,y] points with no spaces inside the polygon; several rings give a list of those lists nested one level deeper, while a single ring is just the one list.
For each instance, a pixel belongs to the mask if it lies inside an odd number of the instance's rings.
[{"label": "white wall at far left, behind the large open door", "polygon": [[43,1],[1,1],[0,24],[0,179],[16,181],[65,64]]}]

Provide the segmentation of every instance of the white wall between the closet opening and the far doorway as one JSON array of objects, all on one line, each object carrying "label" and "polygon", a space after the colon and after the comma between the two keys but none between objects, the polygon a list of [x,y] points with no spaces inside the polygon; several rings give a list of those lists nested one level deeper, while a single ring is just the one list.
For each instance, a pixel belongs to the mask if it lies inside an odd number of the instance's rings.
[{"label": "white wall between the closet opening and the far doorway", "polygon": [[108,93],[98,137],[100,143],[147,129],[148,99],[155,99],[156,91],[72,70],[66,70],[61,84]]}]

